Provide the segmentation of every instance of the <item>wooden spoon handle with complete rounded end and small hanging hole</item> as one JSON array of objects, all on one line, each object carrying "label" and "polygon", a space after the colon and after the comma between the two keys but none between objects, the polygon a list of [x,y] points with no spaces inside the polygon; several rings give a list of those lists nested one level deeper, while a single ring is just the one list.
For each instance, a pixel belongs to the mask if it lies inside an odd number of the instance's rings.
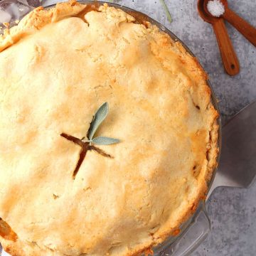
[{"label": "wooden spoon handle with complete rounded end and small hanging hole", "polygon": [[228,75],[236,75],[240,70],[238,57],[235,54],[235,50],[228,36],[224,20],[223,18],[217,18],[212,24],[220,48],[224,68]]}]

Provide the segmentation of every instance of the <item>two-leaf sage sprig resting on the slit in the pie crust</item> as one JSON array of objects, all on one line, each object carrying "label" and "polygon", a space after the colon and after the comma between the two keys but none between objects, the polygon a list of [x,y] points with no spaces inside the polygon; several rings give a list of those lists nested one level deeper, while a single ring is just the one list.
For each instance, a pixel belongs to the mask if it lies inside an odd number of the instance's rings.
[{"label": "two-leaf sage sprig resting on the slit in the pie crust", "polygon": [[96,145],[111,145],[119,143],[119,139],[114,139],[110,137],[95,137],[95,132],[100,127],[100,124],[105,120],[109,112],[109,105],[107,102],[102,104],[95,115],[92,117],[92,122],[87,132],[87,138],[82,138],[82,142],[89,142],[89,144]]}]

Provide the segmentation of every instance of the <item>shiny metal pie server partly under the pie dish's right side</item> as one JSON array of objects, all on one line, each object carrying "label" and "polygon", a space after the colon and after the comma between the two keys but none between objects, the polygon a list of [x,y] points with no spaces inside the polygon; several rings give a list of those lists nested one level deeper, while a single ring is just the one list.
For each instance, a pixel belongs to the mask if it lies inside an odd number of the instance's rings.
[{"label": "shiny metal pie server partly under the pie dish's right side", "polygon": [[256,101],[223,127],[220,165],[208,197],[218,186],[248,188],[256,176]]}]

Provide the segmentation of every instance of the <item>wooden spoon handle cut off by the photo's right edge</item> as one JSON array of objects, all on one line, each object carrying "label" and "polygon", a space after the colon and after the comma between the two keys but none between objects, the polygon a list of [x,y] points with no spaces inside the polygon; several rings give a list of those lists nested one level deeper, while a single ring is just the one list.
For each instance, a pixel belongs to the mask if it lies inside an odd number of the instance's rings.
[{"label": "wooden spoon handle cut off by the photo's right edge", "polygon": [[248,41],[250,41],[254,46],[256,46],[256,28],[251,26],[243,18],[235,14],[235,12],[226,8],[223,14],[225,18],[232,26],[234,26]]}]

